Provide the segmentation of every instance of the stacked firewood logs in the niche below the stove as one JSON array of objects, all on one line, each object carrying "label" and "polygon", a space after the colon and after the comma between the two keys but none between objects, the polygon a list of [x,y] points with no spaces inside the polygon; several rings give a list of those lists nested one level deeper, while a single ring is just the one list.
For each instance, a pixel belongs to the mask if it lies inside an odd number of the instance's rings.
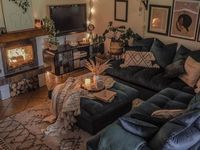
[{"label": "stacked firewood logs in the niche below the stove", "polygon": [[10,84],[10,94],[11,97],[26,93],[28,91],[35,90],[39,87],[38,77],[35,76],[30,79],[23,79],[18,82],[13,82]]}]

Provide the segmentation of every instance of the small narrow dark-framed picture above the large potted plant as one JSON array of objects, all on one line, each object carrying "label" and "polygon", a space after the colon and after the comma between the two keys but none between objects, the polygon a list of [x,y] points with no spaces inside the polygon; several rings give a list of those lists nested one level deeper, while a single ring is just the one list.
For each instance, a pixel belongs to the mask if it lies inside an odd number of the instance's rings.
[{"label": "small narrow dark-framed picture above the large potted plant", "polygon": [[116,21],[128,21],[128,0],[115,0],[114,19]]}]

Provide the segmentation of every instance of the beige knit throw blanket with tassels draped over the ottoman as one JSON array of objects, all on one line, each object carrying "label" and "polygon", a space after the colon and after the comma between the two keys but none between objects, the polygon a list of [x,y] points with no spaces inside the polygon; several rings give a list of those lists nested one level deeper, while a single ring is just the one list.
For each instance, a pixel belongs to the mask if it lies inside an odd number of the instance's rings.
[{"label": "beige knit throw blanket with tassels draped over the ottoman", "polygon": [[[51,111],[56,122],[47,127],[45,134],[56,136],[72,129],[76,116],[80,115],[80,98],[95,98],[91,93],[81,88],[82,77],[68,78],[65,83],[55,87],[52,93]],[[115,81],[108,76],[102,76],[105,87],[111,88]]]}]

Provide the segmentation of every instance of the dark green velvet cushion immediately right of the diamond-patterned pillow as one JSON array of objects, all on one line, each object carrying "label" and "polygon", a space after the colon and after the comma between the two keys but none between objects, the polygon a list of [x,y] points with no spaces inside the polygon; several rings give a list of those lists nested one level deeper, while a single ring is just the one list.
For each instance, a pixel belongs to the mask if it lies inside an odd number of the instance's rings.
[{"label": "dark green velvet cushion immediately right of the diamond-patterned pillow", "polygon": [[154,54],[157,64],[165,68],[172,63],[176,48],[177,43],[165,45],[160,40],[155,39],[150,51]]}]

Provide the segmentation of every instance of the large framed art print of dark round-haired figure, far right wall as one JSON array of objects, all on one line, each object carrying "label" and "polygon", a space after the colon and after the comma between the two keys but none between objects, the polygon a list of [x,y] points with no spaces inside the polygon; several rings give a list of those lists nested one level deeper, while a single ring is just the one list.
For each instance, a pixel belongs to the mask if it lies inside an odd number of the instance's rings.
[{"label": "large framed art print of dark round-haired figure, far right wall", "polygon": [[198,31],[200,2],[174,0],[170,36],[195,41]]}]

